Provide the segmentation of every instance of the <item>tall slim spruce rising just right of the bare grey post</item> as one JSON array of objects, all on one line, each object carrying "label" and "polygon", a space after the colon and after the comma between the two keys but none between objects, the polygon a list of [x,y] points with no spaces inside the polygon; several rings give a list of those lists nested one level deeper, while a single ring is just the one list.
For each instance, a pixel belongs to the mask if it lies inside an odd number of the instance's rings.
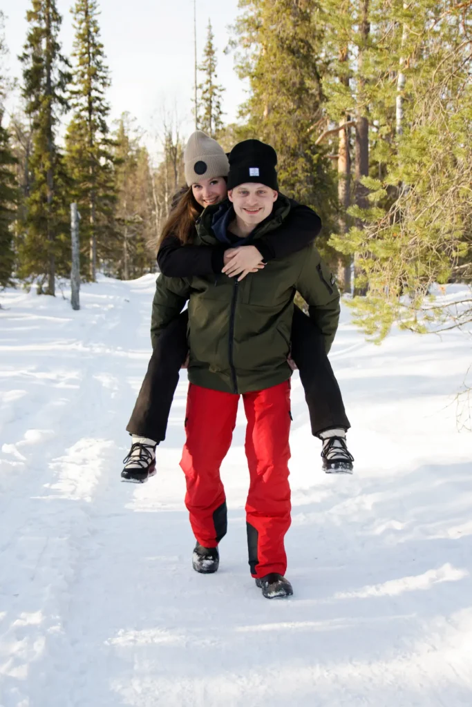
[{"label": "tall slim spruce rising just right of the bare grey post", "polygon": [[96,278],[100,241],[106,237],[113,206],[113,170],[105,93],[110,86],[100,42],[97,0],[77,0],[73,8],[74,117],[67,132],[67,164],[74,180],[74,199],[81,213],[81,235],[88,240],[88,276]]}]

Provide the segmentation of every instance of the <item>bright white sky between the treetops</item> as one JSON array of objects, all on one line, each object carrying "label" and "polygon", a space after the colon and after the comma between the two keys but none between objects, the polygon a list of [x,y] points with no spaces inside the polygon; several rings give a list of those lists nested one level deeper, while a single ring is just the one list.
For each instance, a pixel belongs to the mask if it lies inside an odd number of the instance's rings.
[{"label": "bright white sky between the treetops", "polygon": [[[64,54],[70,54],[73,41],[70,8],[73,0],[57,0],[62,14],[61,41]],[[11,77],[21,77],[17,55],[25,42],[26,11],[30,0],[0,0],[5,14],[5,37],[10,56]],[[147,132],[153,148],[159,131],[163,105],[177,106],[183,134],[192,132],[193,95],[193,1],[192,0],[99,0],[100,29],[110,67],[112,87],[109,100],[115,119],[127,110]],[[234,71],[234,56],[226,56],[229,25],[238,14],[238,0],[197,0],[197,54],[201,61],[207,23],[211,18],[214,43],[218,50],[218,80],[226,87],[226,122],[236,119],[238,105],[245,100],[244,84]],[[7,106],[12,110],[18,98]]]}]

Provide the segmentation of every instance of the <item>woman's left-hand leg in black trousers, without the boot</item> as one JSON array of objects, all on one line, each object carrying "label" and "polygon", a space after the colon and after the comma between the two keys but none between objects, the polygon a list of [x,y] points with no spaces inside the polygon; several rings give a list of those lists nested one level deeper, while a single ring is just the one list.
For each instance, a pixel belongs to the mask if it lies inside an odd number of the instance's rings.
[{"label": "woman's left-hand leg in black trousers, without the boot", "polygon": [[161,333],[139,391],[127,431],[159,444],[166,439],[168,416],[179,372],[188,354],[188,311]]}]

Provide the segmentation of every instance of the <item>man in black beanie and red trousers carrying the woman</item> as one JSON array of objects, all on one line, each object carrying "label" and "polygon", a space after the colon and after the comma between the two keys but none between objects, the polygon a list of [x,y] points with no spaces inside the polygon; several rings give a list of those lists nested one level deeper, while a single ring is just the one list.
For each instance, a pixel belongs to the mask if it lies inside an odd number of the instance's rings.
[{"label": "man in black beanie and red trousers carrying the woman", "polygon": [[[292,204],[279,194],[277,155],[269,145],[247,140],[229,156],[229,201],[207,206],[195,230],[195,245],[248,243],[276,233]],[[205,170],[202,166],[202,174]],[[248,246],[247,246],[248,247]],[[154,344],[188,302],[189,390],[186,442],[180,466],[185,504],[196,545],[192,566],[213,573],[226,534],[226,496],[219,469],[231,445],[238,400],[246,418],[250,485],[246,527],[251,575],[269,599],[292,595],[285,578],[284,536],[291,522],[288,461],[290,376],[287,363],[297,291],[329,351],[339,320],[339,293],[312,245],[274,259],[243,281],[210,274],[161,276],[151,322]]]}]

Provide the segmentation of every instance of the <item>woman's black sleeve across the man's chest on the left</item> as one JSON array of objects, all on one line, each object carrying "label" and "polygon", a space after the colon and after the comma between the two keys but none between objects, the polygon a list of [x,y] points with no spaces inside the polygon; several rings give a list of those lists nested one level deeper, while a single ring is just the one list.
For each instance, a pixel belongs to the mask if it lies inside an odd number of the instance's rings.
[{"label": "woman's black sleeve across the man's chest on the left", "polygon": [[159,270],[166,277],[212,275],[223,269],[224,245],[182,245],[176,235],[164,238],[157,254]]}]

